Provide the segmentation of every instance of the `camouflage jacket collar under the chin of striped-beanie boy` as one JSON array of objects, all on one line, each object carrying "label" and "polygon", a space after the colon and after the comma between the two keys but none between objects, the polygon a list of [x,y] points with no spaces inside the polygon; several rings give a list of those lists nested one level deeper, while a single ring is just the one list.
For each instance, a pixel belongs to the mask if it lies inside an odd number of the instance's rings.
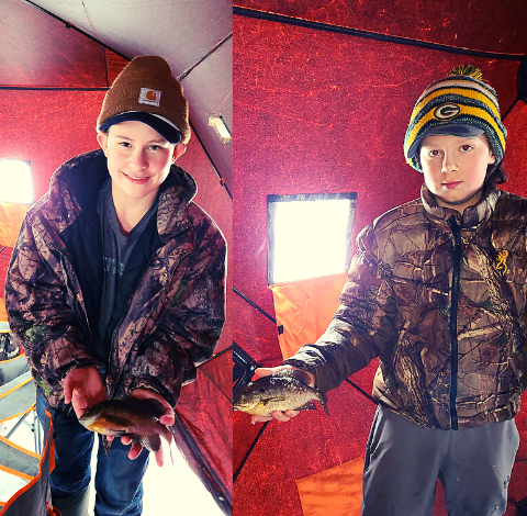
[{"label": "camouflage jacket collar under the chin of striped-beanie boy", "polygon": [[429,218],[441,225],[446,224],[447,218],[453,214],[461,227],[478,227],[490,218],[494,212],[494,209],[496,207],[498,199],[500,190],[496,187],[491,186],[485,189],[478,204],[468,206],[463,214],[461,214],[451,207],[439,206],[436,202],[436,198],[428,190],[426,184],[423,183],[421,187],[421,200],[423,202],[425,213],[429,216]]}]

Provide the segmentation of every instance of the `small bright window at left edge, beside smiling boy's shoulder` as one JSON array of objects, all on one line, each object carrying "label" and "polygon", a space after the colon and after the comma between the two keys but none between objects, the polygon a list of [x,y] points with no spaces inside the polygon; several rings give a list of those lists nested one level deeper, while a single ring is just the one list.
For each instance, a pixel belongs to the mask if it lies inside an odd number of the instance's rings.
[{"label": "small bright window at left edge, beside smiling boy's shoulder", "polygon": [[32,204],[33,200],[31,161],[0,159],[0,202]]}]

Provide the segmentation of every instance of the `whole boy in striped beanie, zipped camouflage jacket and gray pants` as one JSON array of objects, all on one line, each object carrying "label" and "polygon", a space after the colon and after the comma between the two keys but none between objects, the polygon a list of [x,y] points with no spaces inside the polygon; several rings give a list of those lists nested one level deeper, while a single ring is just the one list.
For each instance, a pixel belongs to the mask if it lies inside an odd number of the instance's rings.
[{"label": "whole boy in striped beanie, zipped camouflage jacket and gray pants", "polygon": [[361,516],[431,515],[438,479],[448,514],[506,511],[527,370],[527,200],[496,188],[505,139],[480,70],[427,87],[404,141],[421,197],[360,232],[317,341],[256,370],[299,368],[327,392],[379,359]]}]

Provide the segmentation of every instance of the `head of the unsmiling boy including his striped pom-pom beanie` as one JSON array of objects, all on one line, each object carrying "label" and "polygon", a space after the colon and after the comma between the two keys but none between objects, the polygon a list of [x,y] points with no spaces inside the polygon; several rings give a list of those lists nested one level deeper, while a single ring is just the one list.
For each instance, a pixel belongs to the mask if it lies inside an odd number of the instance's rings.
[{"label": "head of the unsmiling boy including his striped pom-pom beanie", "polygon": [[404,153],[406,161],[424,172],[437,204],[462,213],[481,199],[487,186],[505,182],[506,137],[495,90],[478,68],[460,66],[418,98]]}]

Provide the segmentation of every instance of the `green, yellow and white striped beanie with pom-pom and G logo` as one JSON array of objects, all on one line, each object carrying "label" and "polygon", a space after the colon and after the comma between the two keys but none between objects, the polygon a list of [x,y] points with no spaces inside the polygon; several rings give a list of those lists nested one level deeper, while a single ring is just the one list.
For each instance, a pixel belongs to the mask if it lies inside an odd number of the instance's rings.
[{"label": "green, yellow and white striped beanie with pom-pom and G logo", "polygon": [[406,162],[419,172],[421,143],[425,136],[485,134],[496,162],[503,159],[507,130],[500,116],[494,88],[474,66],[458,66],[446,79],[433,82],[417,100],[404,137]]}]

